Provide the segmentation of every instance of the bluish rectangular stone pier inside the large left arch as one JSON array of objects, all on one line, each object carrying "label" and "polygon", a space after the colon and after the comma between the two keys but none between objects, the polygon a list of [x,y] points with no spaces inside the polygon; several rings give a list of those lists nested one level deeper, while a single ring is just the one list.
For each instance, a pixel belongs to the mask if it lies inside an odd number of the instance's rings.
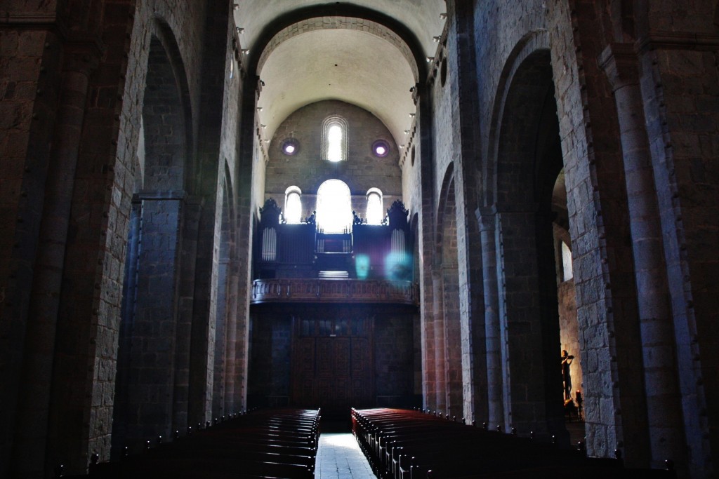
[{"label": "bluish rectangular stone pier inside the large left arch", "polygon": [[[178,256],[183,197],[143,192],[132,325],[127,440],[170,437],[173,427]],[[131,443],[132,444],[132,443]]]}]

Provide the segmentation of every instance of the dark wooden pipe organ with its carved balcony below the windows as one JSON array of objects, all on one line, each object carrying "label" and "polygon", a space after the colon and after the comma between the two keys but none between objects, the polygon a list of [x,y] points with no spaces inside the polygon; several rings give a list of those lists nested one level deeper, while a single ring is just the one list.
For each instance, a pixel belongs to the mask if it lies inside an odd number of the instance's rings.
[{"label": "dark wooden pipe organ with its carved balcony below the windows", "polygon": [[367,225],[354,215],[352,226],[340,233],[317,228],[313,216],[284,223],[272,199],[260,211],[252,304],[419,304],[413,238],[401,202],[395,201],[382,225]]}]

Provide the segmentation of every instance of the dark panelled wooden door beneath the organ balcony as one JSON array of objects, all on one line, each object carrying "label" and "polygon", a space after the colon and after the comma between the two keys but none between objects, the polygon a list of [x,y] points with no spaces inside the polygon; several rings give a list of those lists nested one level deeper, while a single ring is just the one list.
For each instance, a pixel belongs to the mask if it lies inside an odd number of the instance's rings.
[{"label": "dark panelled wooden door beneath the organ balcony", "polygon": [[370,321],[296,319],[292,404],[321,407],[323,414],[372,406],[371,323],[365,324]]}]

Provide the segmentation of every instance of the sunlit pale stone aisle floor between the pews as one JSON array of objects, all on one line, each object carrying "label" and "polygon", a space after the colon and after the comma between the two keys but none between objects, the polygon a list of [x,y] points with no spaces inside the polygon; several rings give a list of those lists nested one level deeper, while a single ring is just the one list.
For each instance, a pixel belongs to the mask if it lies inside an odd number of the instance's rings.
[{"label": "sunlit pale stone aisle floor between the pews", "polygon": [[315,464],[316,479],[376,479],[357,440],[349,433],[323,432]]}]

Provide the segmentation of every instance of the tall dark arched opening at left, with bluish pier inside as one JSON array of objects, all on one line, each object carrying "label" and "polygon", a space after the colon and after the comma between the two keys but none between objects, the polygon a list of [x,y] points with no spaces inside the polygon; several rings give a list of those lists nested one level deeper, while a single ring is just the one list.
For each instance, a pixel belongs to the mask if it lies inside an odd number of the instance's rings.
[{"label": "tall dark arched opening at left, with bluish pier inside", "polygon": [[170,27],[148,39],[115,384],[113,449],[164,435],[176,417],[178,280],[191,149],[188,87]]}]

